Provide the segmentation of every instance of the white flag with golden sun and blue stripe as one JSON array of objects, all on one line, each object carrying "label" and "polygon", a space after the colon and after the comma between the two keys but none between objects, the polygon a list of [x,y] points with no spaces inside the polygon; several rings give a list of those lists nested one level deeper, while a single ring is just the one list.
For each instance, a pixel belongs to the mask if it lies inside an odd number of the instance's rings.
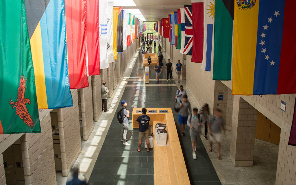
[{"label": "white flag with golden sun and blue stripe", "polygon": [[211,71],[214,60],[214,22],[215,22],[215,1],[204,1],[204,41],[201,70]]}]

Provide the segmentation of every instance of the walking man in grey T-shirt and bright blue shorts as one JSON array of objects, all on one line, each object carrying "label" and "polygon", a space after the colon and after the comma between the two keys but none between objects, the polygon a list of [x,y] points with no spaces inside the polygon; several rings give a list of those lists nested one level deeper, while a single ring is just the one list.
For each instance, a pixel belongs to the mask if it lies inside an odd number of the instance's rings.
[{"label": "walking man in grey T-shirt and bright blue shorts", "polygon": [[[178,101],[178,105],[176,108],[179,109],[179,115],[178,115],[178,121],[179,121],[179,127],[180,132],[183,137],[185,137],[185,126],[187,124],[188,115],[192,114],[191,105],[190,102],[187,100],[188,96],[185,94],[183,96],[183,99],[181,101]],[[183,128],[182,128],[183,125]]]}]

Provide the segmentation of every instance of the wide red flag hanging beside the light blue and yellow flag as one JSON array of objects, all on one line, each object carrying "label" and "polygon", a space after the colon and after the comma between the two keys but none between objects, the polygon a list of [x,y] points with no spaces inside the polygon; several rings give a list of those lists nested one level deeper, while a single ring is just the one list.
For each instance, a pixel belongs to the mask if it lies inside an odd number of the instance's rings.
[{"label": "wide red flag hanging beside the light blue and yellow flag", "polygon": [[86,0],[65,0],[70,89],[89,86],[86,70]]}]

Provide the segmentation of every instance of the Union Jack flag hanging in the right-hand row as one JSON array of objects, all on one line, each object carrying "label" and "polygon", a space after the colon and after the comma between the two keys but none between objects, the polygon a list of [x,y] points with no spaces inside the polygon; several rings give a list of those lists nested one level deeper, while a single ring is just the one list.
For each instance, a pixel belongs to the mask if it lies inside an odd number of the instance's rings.
[{"label": "Union Jack flag hanging in the right-hand row", "polygon": [[185,44],[184,54],[192,55],[192,7],[191,5],[184,5],[185,9]]}]

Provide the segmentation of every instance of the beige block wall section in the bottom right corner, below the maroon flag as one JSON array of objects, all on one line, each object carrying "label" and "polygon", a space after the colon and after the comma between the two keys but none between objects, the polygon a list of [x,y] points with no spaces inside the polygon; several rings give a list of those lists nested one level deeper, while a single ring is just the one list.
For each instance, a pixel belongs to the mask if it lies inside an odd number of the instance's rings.
[{"label": "beige block wall section in the bottom right corner, below the maroon flag", "polygon": [[288,145],[290,134],[281,129],[276,185],[296,184],[296,147]]}]

